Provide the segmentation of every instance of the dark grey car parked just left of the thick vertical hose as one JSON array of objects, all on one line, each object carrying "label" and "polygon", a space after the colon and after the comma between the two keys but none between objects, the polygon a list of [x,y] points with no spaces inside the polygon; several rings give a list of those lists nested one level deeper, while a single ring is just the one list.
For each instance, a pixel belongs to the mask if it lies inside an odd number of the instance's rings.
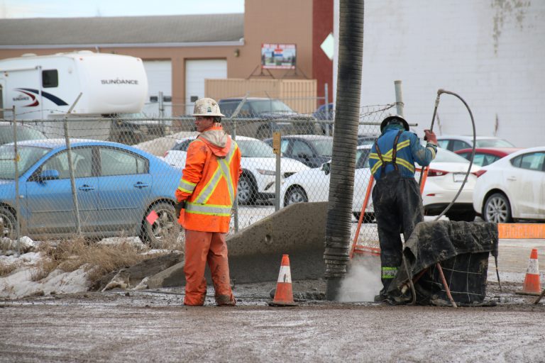
[{"label": "dark grey car parked just left of the thick vertical hose", "polygon": [[[272,146],[272,138],[263,140]],[[331,160],[333,137],[325,135],[285,135],[280,139],[282,156],[298,160],[307,167],[319,167]]]}]

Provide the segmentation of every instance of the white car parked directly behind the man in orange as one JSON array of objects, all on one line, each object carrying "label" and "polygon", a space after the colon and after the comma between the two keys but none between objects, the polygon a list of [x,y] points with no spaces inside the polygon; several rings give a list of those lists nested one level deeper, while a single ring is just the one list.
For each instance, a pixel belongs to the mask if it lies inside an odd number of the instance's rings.
[{"label": "white car parked directly behind the man in orange", "polygon": [[[172,150],[165,153],[163,157],[165,162],[183,169],[187,147],[193,140],[195,140],[194,137],[177,140]],[[256,199],[274,198],[276,155],[272,153],[272,147],[261,140],[246,136],[237,136],[236,143],[241,149],[243,169],[241,179],[238,180],[238,203],[250,204]],[[308,169],[307,165],[289,157],[282,157],[280,160],[281,180]]]}]

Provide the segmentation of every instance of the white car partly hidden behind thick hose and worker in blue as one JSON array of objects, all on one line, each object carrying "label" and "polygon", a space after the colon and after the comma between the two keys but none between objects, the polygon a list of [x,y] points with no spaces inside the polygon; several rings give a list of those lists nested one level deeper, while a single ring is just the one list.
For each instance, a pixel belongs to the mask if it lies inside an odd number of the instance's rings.
[{"label": "white car partly hidden behind thick hose and worker in blue", "polygon": [[[353,214],[356,218],[359,218],[370,179],[368,162],[370,147],[371,145],[358,146],[358,159],[354,177],[356,188],[352,202]],[[468,160],[448,150],[438,149],[436,158],[430,164],[428,178],[424,185],[422,201],[426,215],[437,216],[444,211],[444,208],[451,203],[458,193],[462,181],[466,177],[468,167]],[[451,220],[473,220],[475,218],[472,193],[477,179],[476,174],[479,170],[480,167],[472,165],[468,181],[464,185],[460,196],[446,213],[446,216]],[[415,178],[417,181],[419,180],[419,172],[415,174]],[[306,172],[300,172],[285,179],[280,190],[281,206],[303,201],[327,201],[328,198],[329,163],[324,164],[321,168],[309,169]],[[371,203],[371,200],[365,209],[365,213],[369,214],[369,218],[372,220],[373,203]],[[369,218],[366,217],[365,220],[369,220]]]}]

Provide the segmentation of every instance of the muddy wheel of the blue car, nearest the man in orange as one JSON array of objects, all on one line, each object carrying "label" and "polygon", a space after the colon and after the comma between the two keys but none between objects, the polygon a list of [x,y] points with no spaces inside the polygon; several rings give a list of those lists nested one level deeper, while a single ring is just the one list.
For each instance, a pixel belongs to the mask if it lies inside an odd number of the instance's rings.
[{"label": "muddy wheel of the blue car, nearest the man in orange", "polygon": [[177,221],[174,206],[165,202],[156,203],[148,210],[146,216],[151,211],[155,211],[158,218],[153,224],[144,218],[141,235],[143,241],[153,248],[162,247],[167,240],[176,241],[180,233],[180,224]]}]

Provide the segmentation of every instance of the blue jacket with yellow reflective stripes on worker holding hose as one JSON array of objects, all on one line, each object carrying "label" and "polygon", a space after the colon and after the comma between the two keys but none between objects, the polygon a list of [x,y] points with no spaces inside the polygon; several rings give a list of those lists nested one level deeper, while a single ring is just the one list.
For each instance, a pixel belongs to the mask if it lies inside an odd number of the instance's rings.
[{"label": "blue jacket with yellow reflective stripes on worker holding hose", "polygon": [[[394,146],[395,136],[402,126],[388,125],[380,138],[378,138],[378,147],[382,154],[382,160],[385,162],[392,161],[392,149]],[[402,177],[414,177],[414,162],[422,166],[427,166],[434,160],[437,152],[437,147],[434,144],[428,143],[426,147],[420,145],[420,140],[415,133],[404,131],[397,141],[396,164],[400,170]],[[382,172],[382,162],[378,157],[375,145],[371,147],[369,155],[369,165],[371,173],[376,180],[380,179]],[[394,169],[392,164],[386,164],[386,172],[391,172]]]}]

